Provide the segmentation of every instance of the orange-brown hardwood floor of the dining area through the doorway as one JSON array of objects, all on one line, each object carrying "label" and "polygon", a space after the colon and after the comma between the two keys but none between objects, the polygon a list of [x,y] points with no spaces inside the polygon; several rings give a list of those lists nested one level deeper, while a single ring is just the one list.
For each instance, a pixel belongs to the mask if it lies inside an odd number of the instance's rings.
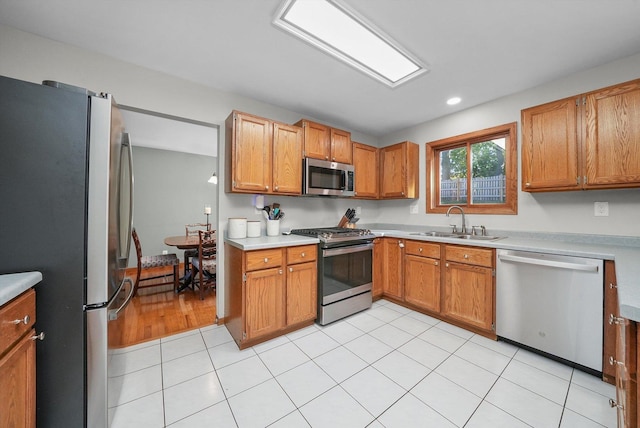
[{"label": "orange-brown hardwood floor of the dining area through the doorway", "polygon": [[215,321],[215,291],[207,292],[204,300],[200,300],[193,290],[174,293],[171,284],[143,289],[131,299],[124,314],[111,321],[109,346],[135,345],[211,325]]}]

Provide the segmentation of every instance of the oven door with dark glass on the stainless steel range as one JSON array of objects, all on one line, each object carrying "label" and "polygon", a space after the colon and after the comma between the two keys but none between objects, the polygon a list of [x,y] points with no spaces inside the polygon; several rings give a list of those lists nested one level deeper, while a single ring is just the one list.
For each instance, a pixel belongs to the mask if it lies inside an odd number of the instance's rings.
[{"label": "oven door with dark glass on the stainless steel range", "polygon": [[373,270],[371,260],[371,249],[323,257],[321,269],[323,303],[349,297],[359,287],[369,289]]}]

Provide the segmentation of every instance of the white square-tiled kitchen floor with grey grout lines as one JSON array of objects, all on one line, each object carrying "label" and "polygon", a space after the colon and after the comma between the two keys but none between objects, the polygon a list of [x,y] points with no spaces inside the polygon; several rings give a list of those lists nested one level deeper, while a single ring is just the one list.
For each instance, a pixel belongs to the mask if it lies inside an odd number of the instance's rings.
[{"label": "white square-tiled kitchen floor with grey grout lines", "polygon": [[239,351],[210,326],[112,355],[119,427],[615,427],[612,385],[386,300]]}]

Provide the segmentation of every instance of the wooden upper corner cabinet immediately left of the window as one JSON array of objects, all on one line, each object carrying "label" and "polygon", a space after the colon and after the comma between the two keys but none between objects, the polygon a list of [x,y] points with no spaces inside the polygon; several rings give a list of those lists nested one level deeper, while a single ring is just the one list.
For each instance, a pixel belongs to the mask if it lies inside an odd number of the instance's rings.
[{"label": "wooden upper corner cabinet immediately left of the window", "polygon": [[418,145],[410,141],[380,149],[380,198],[418,197],[419,151]]}]

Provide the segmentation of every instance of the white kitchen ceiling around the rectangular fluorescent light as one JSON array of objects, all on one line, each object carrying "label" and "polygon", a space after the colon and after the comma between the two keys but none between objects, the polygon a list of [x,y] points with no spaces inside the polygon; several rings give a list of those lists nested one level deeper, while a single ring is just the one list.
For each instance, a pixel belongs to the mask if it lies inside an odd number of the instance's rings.
[{"label": "white kitchen ceiling around the rectangular fluorescent light", "polygon": [[431,71],[388,88],[273,26],[281,0],[0,0],[0,23],[374,136],[640,52],[640,0],[343,1]]}]

